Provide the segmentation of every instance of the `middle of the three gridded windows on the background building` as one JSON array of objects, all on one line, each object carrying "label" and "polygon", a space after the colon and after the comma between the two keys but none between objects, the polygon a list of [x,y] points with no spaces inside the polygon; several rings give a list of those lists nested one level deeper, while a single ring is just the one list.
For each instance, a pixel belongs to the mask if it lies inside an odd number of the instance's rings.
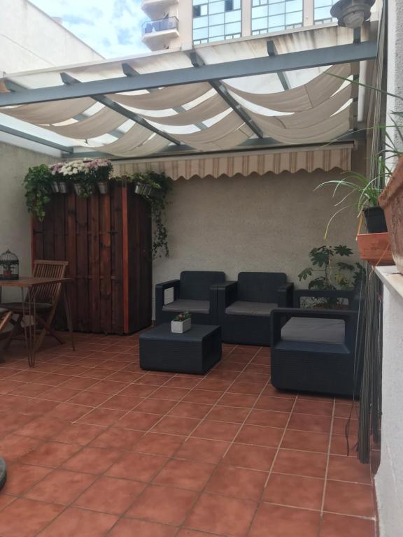
[{"label": "middle of the three gridded windows on the background building", "polygon": [[302,27],[303,14],[303,0],[252,0],[252,34]]}]

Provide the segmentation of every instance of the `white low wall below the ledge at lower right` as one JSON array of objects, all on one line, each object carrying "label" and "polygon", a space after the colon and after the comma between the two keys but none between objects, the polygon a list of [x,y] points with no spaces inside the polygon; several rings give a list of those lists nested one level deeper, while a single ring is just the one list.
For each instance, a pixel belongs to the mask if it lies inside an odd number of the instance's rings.
[{"label": "white low wall below the ledge at lower right", "polygon": [[397,537],[403,535],[403,296],[386,286],[383,291],[382,443],[375,484],[380,537]]}]

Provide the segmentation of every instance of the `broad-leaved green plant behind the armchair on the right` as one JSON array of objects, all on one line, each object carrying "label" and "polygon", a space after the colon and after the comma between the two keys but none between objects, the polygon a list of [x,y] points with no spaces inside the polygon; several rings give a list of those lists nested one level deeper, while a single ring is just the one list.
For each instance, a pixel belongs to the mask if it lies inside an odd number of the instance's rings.
[{"label": "broad-leaved green plant behind the armchair on the right", "polygon": [[[336,291],[338,289],[355,289],[364,275],[364,267],[360,263],[346,263],[337,257],[350,257],[353,250],[345,245],[339,246],[319,246],[309,252],[311,266],[304,268],[299,273],[301,282],[313,277],[308,284],[308,289],[318,289],[319,291]],[[318,273],[315,275],[314,273]],[[342,299],[334,297],[320,297],[320,299],[310,299],[305,306],[311,308],[344,308]]]}]

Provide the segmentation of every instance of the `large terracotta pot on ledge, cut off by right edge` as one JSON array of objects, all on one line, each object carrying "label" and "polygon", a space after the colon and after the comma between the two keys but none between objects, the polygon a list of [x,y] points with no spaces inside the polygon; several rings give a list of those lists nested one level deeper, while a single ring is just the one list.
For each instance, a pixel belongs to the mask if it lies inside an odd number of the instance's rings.
[{"label": "large terracotta pot on ledge, cut off by right edge", "polygon": [[403,157],[397,161],[393,175],[379,196],[385,211],[393,260],[403,274]]}]

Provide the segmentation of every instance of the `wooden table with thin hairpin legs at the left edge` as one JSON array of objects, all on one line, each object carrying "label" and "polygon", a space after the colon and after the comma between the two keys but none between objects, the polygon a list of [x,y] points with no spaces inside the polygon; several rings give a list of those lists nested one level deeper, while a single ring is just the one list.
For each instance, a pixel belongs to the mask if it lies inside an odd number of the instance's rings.
[{"label": "wooden table with thin hairpin legs at the left edge", "polygon": [[[24,340],[28,353],[28,364],[35,366],[36,355],[36,292],[35,289],[41,285],[62,284],[62,295],[64,312],[66,313],[67,327],[71,338],[71,347],[76,350],[73,337],[73,320],[71,317],[71,306],[66,285],[73,282],[71,278],[36,278],[34,276],[21,277],[17,280],[0,280],[0,287],[19,287],[21,289],[22,315],[24,316]],[[3,304],[6,306],[6,303]],[[33,322],[25,322],[31,319]]]}]

